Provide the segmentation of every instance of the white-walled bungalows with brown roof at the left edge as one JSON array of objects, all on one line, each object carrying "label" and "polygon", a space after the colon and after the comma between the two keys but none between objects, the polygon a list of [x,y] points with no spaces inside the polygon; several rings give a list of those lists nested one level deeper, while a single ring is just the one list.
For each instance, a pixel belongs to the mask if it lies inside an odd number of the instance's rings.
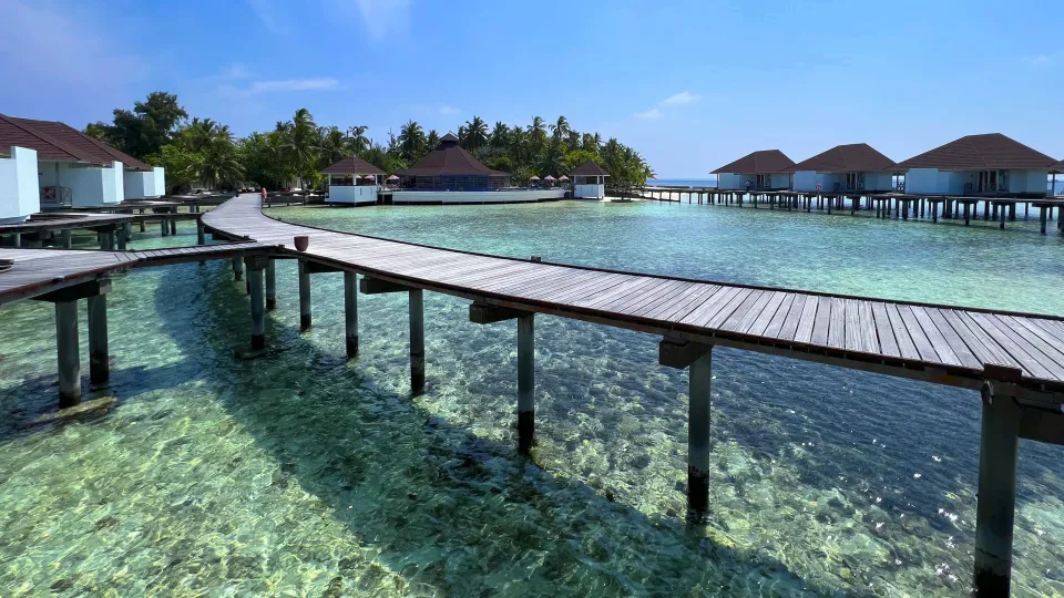
[{"label": "white-walled bungalows with brown roof at the left edge", "polygon": [[24,219],[42,206],[100,207],[166,193],[163,168],[63,123],[0,114],[0,218]]}]

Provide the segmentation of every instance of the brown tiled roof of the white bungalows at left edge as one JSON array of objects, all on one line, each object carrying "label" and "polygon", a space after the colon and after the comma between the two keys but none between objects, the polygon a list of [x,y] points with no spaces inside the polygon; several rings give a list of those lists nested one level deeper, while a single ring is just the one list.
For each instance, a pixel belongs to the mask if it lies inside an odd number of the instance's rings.
[{"label": "brown tiled roof of the white bungalows at left edge", "polygon": [[85,162],[100,166],[121,162],[131,171],[152,171],[152,166],[63,123],[0,114],[0,147],[12,145],[37,151],[38,159]]}]

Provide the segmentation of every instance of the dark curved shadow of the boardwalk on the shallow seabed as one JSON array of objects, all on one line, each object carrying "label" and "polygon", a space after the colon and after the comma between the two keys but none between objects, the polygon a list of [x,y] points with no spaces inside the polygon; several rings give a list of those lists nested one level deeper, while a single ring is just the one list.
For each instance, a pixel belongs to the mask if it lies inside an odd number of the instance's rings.
[{"label": "dark curved shadow of the boardwalk on the shallow seabed", "polygon": [[[214,311],[219,326],[174,340],[193,360],[229,360],[222,364],[229,378],[207,380],[231,390],[222,393],[226,410],[276,456],[273,485],[299,484],[328,504],[409,589],[444,596],[846,594],[810,587],[775,559],[714,544],[698,526],[648,518],[582,481],[555,477],[509,444],[432,416],[409,396],[374,389],[357,362],[324,353],[272,318],[267,342],[280,354],[237,361],[232,349],[248,334],[248,303],[243,285],[225,283],[221,275],[204,277],[212,288],[197,306]],[[173,297],[164,287],[156,307],[164,329],[178,330],[185,322],[166,309]],[[405,347],[405,336],[395,342]],[[198,364],[201,372],[216,369]],[[380,575],[356,571],[365,559],[352,557],[337,558],[332,587],[371,590]]]}]

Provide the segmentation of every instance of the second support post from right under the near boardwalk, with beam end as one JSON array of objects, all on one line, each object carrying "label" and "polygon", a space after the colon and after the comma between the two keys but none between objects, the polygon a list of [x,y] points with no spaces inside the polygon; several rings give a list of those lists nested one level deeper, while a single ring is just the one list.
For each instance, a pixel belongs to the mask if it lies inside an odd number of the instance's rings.
[{"label": "second support post from right under the near boardwalk, with beam end", "polygon": [[[829,204],[830,205],[830,204]],[[695,515],[709,508],[709,393],[713,346],[664,338],[658,344],[658,363],[684,369],[688,365],[687,411],[687,505]]]}]

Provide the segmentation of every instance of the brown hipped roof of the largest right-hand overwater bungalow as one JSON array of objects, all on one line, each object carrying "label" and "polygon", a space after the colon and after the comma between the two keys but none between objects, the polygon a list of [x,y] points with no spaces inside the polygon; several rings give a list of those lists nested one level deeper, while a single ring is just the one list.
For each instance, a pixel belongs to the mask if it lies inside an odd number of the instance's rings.
[{"label": "brown hipped roof of the largest right-hand overwater bungalow", "polygon": [[999,168],[1048,168],[1055,161],[1001,133],[966,135],[894,165],[940,171],[990,171]]}]

